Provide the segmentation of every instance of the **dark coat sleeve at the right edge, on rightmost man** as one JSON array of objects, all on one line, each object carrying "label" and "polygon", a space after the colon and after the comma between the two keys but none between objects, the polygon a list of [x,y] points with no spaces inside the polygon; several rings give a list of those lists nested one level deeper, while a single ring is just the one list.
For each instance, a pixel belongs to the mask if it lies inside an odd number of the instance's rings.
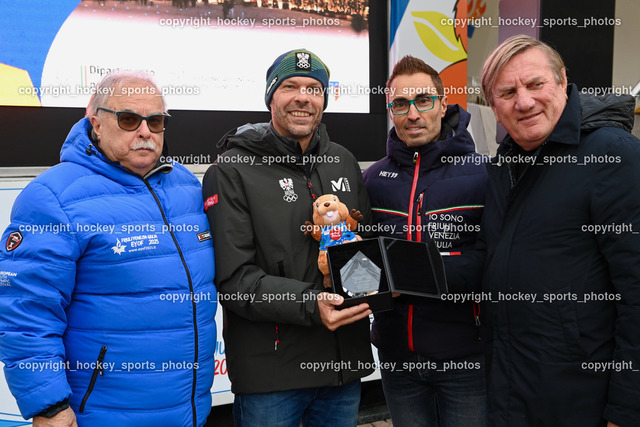
[{"label": "dark coat sleeve at the right edge, on rightmost man", "polygon": [[629,134],[618,135],[609,135],[604,154],[620,161],[599,165],[591,217],[593,224],[611,226],[596,239],[620,296],[613,359],[630,368],[612,370],[604,418],[624,426],[640,420],[640,143]]}]

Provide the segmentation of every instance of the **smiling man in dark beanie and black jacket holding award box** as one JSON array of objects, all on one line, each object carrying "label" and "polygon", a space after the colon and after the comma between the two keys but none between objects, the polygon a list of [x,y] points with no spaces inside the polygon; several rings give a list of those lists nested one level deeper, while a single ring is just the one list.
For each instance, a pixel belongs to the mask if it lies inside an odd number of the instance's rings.
[{"label": "smiling man in dark beanie and black jacket holding award box", "polygon": [[238,427],[355,426],[372,372],[371,310],[337,309],[303,232],[325,193],[371,217],[358,162],[320,123],[328,82],[312,52],[280,55],[267,71],[271,121],[227,133],[204,177]]}]

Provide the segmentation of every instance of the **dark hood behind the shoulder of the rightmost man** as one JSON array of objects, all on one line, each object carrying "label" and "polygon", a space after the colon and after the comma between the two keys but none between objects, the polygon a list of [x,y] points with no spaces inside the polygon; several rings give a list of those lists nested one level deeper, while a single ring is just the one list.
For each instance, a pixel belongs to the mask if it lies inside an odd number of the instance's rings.
[{"label": "dark hood behind the shoulder of the rightmost man", "polygon": [[613,126],[631,132],[634,121],[635,100],[631,95],[595,96],[580,94],[582,130]]}]

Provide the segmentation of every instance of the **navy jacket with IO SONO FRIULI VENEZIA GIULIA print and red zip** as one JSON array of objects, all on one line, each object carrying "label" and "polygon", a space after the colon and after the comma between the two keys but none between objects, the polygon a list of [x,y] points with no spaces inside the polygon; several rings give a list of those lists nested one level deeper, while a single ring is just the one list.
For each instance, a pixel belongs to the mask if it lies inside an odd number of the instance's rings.
[{"label": "navy jacket with IO SONO FRIULI VENEZIA GIULIA print and red zip", "polygon": [[[380,235],[431,239],[445,256],[473,248],[487,171],[467,131],[469,119],[463,108],[449,105],[440,139],[416,148],[407,147],[391,129],[387,157],[364,172]],[[384,359],[407,360],[416,352],[438,361],[482,353],[477,305],[409,296],[393,302],[393,311],[376,313],[371,331]]]}]

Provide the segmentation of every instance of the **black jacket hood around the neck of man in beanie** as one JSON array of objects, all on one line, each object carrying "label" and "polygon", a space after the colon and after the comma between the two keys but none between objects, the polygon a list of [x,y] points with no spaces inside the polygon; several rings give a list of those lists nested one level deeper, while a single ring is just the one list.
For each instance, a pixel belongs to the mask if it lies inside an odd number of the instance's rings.
[{"label": "black jacket hood around the neck of man in beanie", "polygon": [[[329,135],[323,123],[314,131],[310,149],[318,146],[318,154],[327,150]],[[231,148],[243,148],[260,156],[301,156],[302,149],[298,141],[278,135],[271,123],[247,123],[227,132],[216,144],[222,152]]]}]

